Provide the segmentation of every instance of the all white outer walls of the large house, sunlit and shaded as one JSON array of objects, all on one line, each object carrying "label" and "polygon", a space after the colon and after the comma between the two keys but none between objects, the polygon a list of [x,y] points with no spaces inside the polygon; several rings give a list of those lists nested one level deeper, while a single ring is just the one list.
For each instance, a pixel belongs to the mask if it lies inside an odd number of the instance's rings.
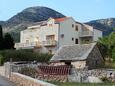
[{"label": "all white outer walls of the large house, sunlit and shaded", "polygon": [[[52,26],[49,26],[49,24],[52,24]],[[72,24],[74,24],[74,27],[72,27]],[[78,26],[78,31],[76,31],[76,25]],[[92,26],[77,23],[73,18],[67,18],[65,21],[62,21],[59,24],[55,24],[55,20],[49,18],[47,20],[47,25],[45,26],[34,25],[28,27],[28,29],[24,31],[21,31],[20,41],[21,43],[26,43],[26,40],[29,40],[29,42],[36,42],[39,40],[39,42],[42,42],[47,41],[47,35],[55,35],[55,40],[58,42],[57,46],[59,48],[63,45],[75,44],[76,39],[78,39],[78,42],[80,43],[79,32],[81,32],[83,28],[88,29],[89,31],[94,31],[94,41],[97,41],[98,37],[102,37],[101,31],[93,29]],[[63,38],[61,37],[62,34],[64,34]],[[72,40],[72,38],[74,38],[74,40]],[[56,51],[57,46],[47,49]]]}]

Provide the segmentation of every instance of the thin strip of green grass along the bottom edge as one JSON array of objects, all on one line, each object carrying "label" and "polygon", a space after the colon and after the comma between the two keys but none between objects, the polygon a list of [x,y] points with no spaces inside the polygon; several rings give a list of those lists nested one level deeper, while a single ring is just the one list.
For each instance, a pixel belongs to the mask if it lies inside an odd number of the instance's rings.
[{"label": "thin strip of green grass along the bottom edge", "polygon": [[50,82],[58,86],[115,86],[115,83],[76,83],[76,82]]}]

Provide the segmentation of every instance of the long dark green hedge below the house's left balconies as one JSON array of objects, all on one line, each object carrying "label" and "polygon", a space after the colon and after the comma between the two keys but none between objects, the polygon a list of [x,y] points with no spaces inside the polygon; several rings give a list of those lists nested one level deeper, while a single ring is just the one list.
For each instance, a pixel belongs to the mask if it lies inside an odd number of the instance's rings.
[{"label": "long dark green hedge below the house's left balconies", "polygon": [[3,56],[3,61],[34,61],[48,62],[52,57],[51,54],[35,53],[31,50],[3,50],[0,51],[0,55]]}]

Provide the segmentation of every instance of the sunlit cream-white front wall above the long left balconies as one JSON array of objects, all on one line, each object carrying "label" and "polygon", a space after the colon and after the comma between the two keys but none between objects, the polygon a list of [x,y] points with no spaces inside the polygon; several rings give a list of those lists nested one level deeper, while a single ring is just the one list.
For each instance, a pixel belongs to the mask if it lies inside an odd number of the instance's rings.
[{"label": "sunlit cream-white front wall above the long left balconies", "polygon": [[[53,24],[52,27],[49,27],[49,24]],[[49,20],[48,25],[46,26],[31,26],[28,29],[21,31],[21,43],[26,43],[26,40],[29,42],[35,42],[39,40],[40,42],[46,41],[47,35],[55,35],[55,40],[58,41],[58,24],[54,24],[54,20]],[[34,28],[34,29],[33,29]]]}]

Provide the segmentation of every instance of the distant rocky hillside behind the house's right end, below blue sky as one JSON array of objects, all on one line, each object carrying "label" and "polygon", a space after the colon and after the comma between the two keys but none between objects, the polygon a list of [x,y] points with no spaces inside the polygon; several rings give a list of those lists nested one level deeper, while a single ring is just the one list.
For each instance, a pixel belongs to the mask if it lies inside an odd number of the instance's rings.
[{"label": "distant rocky hillside behind the house's right end, below blue sky", "polygon": [[87,22],[86,24],[95,27],[96,29],[102,30],[103,35],[108,35],[115,28],[115,18],[99,19]]}]

